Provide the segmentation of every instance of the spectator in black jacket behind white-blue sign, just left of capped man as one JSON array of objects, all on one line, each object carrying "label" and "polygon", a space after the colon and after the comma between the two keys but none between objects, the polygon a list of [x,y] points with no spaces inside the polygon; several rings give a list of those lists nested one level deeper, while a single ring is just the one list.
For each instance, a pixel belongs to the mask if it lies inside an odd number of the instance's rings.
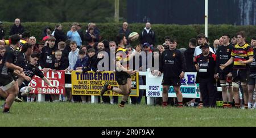
[{"label": "spectator in black jacket behind white-blue sign, just left of capped man", "polygon": [[196,72],[196,67],[193,61],[195,49],[197,46],[197,40],[195,38],[189,40],[189,48],[184,51],[184,57],[187,65],[188,72]]}]

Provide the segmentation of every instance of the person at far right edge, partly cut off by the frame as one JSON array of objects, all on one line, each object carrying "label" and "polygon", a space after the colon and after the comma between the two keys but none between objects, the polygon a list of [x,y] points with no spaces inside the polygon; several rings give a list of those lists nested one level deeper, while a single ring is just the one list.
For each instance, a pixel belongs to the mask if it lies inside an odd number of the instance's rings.
[{"label": "person at far right edge, partly cut off by the frame", "polygon": [[[251,46],[254,50],[254,56],[253,56],[253,63],[250,64],[250,79],[248,83],[248,92],[249,92],[249,102],[248,102],[248,108],[250,109],[252,107],[253,102],[253,92],[256,85],[256,37],[251,38]],[[256,102],[253,106],[254,109],[256,109]]]}]

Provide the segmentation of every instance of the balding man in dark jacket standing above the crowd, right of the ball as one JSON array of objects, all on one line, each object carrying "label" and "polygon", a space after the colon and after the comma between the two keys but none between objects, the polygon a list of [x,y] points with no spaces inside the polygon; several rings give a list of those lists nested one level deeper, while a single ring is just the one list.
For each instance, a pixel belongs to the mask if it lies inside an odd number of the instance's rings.
[{"label": "balding man in dark jacket standing above the crowd, right of the ball", "polygon": [[146,27],[141,33],[141,44],[148,42],[150,45],[155,45],[155,32],[151,30],[151,24],[146,23]]}]

